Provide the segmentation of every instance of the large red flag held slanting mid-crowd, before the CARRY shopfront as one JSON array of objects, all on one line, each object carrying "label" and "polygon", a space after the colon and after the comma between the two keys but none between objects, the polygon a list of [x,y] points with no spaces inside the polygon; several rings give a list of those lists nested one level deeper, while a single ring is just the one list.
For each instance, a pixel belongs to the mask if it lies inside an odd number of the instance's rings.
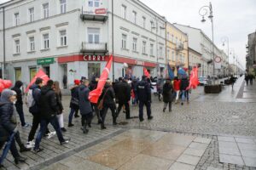
[{"label": "large red flag held slanting mid-crowd, before the CARRY shopfront", "polygon": [[113,62],[113,55],[110,56],[106,67],[102,71],[102,75],[99,79],[97,88],[95,90],[91,91],[90,94],[89,94],[89,99],[90,99],[91,103],[96,104],[98,102],[98,99],[100,98],[100,96],[102,94],[102,90],[103,90],[103,88],[105,86],[105,83],[107,81],[108,74],[109,74],[112,62]]}]

